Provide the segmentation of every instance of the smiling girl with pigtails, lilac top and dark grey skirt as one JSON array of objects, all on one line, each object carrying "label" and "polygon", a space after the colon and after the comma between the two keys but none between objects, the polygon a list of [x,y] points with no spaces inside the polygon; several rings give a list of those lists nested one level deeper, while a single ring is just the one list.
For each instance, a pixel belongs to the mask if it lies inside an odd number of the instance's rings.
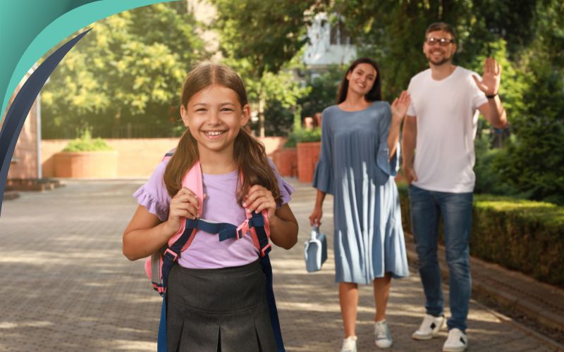
[{"label": "smiling girl with pigtails, lilac top and dark grey skirt", "polygon": [[[298,223],[288,206],[293,189],[243,126],[250,118],[240,77],[223,65],[192,70],[180,115],[188,129],[134,196],[139,206],[123,234],[123,253],[145,258],[179,230],[181,219],[241,224],[247,213],[268,218],[270,239],[290,249]],[[182,187],[199,162],[204,201]],[[259,250],[250,235],[219,241],[198,230],[168,276],[168,351],[276,351]]]}]

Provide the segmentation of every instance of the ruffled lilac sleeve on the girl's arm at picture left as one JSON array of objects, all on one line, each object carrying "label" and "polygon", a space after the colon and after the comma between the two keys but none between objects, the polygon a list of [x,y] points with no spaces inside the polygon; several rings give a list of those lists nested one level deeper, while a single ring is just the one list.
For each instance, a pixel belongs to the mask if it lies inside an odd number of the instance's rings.
[{"label": "ruffled lilac sleeve on the girl's arm at picture left", "polygon": [[133,193],[137,203],[147,208],[149,213],[157,215],[161,221],[168,219],[168,207],[171,203],[171,196],[168,195],[163,180],[167,163],[168,161],[159,163],[149,180]]}]

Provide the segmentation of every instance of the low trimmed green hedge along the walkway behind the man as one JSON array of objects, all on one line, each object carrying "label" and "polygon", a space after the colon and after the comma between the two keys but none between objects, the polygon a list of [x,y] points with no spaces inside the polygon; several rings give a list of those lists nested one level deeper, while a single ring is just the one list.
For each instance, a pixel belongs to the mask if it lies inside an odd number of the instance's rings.
[{"label": "low trimmed green hedge along the walkway behind the man", "polygon": [[[398,185],[403,228],[411,232],[407,185]],[[470,253],[564,287],[564,207],[476,194]]]}]

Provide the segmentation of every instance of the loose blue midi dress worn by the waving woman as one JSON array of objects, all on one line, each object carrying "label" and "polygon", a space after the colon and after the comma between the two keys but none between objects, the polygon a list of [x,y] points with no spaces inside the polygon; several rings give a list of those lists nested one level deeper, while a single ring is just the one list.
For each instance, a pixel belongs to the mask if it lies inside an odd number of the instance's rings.
[{"label": "loose blue midi dress worn by the waving woman", "polygon": [[386,272],[409,275],[394,182],[399,146],[388,159],[390,124],[384,101],[362,111],[330,106],[323,112],[313,187],[334,197],[336,282],[371,284]]}]

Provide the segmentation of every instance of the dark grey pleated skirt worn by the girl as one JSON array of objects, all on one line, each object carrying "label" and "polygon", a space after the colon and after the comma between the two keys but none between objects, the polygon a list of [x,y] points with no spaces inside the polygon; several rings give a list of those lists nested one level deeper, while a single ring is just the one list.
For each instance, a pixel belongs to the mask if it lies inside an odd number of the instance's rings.
[{"label": "dark grey pleated skirt worn by the girl", "polygon": [[276,351],[259,260],[222,269],[174,265],[168,277],[168,351]]}]

